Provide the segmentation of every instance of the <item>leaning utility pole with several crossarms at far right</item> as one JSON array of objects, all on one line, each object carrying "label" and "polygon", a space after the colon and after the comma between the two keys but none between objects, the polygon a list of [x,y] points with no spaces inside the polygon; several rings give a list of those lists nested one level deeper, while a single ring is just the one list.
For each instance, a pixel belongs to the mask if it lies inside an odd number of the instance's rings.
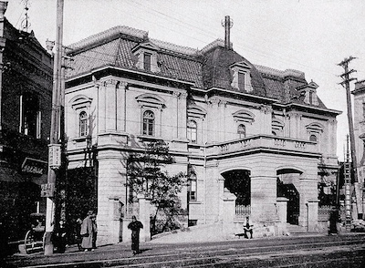
[{"label": "leaning utility pole with several crossarms at far right", "polygon": [[[342,87],[346,89],[346,99],[347,99],[347,106],[348,106],[348,120],[349,120],[349,143],[351,149],[351,160],[352,160],[352,170],[354,176],[354,187],[355,187],[355,198],[356,203],[361,204],[361,197],[360,197],[360,188],[359,188],[359,180],[358,180],[358,161],[356,160],[356,149],[355,149],[355,135],[354,135],[354,126],[353,126],[353,119],[352,119],[352,105],[351,105],[351,92],[349,90],[349,82],[355,80],[356,78],[350,78],[349,75],[353,72],[356,72],[354,69],[349,70],[349,62],[355,59],[355,57],[345,58],[342,62],[338,65],[343,67],[345,72],[340,76],[342,77],[343,81],[339,83]],[[362,207],[358,206],[358,215],[359,219],[362,218]]]}]

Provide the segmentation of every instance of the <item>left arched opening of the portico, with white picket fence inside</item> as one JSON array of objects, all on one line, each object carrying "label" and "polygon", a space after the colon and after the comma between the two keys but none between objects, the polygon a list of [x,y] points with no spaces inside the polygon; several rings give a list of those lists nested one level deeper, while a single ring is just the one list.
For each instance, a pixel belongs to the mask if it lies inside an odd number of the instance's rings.
[{"label": "left arched opening of the portico, with white picket fence inside", "polygon": [[245,218],[251,212],[250,170],[229,170],[222,173],[224,189],[235,194],[235,216]]}]

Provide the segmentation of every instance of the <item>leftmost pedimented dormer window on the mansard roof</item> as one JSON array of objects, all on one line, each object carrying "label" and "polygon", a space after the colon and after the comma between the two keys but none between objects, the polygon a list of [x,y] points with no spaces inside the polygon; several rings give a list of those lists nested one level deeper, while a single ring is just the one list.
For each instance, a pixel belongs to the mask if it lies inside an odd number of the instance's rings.
[{"label": "leftmost pedimented dormer window on the mansard roof", "polygon": [[157,51],[159,49],[151,42],[142,43],[132,48],[131,52],[138,58],[136,67],[153,73],[159,72],[160,68],[157,65]]}]

